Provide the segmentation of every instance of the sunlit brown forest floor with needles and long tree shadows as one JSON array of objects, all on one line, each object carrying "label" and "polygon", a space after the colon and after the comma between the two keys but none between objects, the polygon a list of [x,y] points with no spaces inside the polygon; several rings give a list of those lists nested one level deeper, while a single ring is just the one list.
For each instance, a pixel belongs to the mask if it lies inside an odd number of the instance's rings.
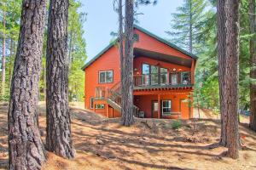
[{"label": "sunlit brown forest floor with needles and long tree shadows", "polygon": [[[242,150],[238,160],[225,156],[218,146],[220,124],[211,112],[201,110],[201,120],[136,119],[121,127],[119,119],[98,116],[73,105],[72,131],[76,157],[66,160],[48,152],[44,170],[94,169],[256,169],[256,133],[240,124]],[[0,169],[8,165],[8,105],[0,105]],[[45,107],[39,105],[39,125],[45,137]]]}]

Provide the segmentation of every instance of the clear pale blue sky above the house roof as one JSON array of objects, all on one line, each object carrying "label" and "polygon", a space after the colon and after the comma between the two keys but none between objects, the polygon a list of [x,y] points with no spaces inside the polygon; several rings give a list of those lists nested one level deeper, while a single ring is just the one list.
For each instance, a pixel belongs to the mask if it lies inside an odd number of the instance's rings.
[{"label": "clear pale blue sky above the house roof", "polygon": [[[81,0],[86,12],[87,20],[84,22],[84,37],[87,42],[88,62],[103,48],[108,46],[112,37],[111,31],[118,30],[118,15],[113,11],[113,0]],[[181,6],[183,0],[159,0],[155,6],[141,6],[138,8],[138,26],[153,32],[160,37],[167,37],[165,31],[170,29],[172,13]]]}]

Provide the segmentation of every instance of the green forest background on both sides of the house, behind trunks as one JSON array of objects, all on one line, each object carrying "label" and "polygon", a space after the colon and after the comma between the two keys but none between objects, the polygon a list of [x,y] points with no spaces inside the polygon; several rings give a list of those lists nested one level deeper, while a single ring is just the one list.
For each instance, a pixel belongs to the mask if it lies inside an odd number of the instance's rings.
[{"label": "green forest background on both sides of the house, behind trunks", "polygon": [[[69,100],[82,101],[84,98],[84,74],[81,67],[86,59],[86,42],[82,23],[86,14],[79,11],[82,3],[71,0],[68,22]],[[14,65],[20,29],[21,0],[2,0],[0,3],[0,56],[1,95],[0,100],[9,100],[9,86]],[[139,21],[139,19],[138,19]],[[239,105],[249,107],[249,34],[248,1],[241,0],[240,9],[240,62],[239,62]],[[218,97],[218,56],[216,0],[184,0],[183,6],[170,16],[170,27],[163,28],[166,39],[184,48],[199,59],[195,74],[195,105],[219,112]],[[45,28],[46,35],[47,28]],[[40,78],[40,100],[45,99],[45,55]],[[4,64],[3,64],[4,62]],[[3,65],[5,73],[3,74]],[[5,80],[4,78],[5,77]]]}]

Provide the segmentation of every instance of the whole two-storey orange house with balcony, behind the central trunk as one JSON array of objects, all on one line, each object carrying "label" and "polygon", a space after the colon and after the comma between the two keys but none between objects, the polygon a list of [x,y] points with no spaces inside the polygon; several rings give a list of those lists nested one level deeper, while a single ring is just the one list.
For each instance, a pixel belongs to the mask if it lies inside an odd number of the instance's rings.
[{"label": "whole two-storey orange house with balcony, behind the central trunk", "polygon": [[[84,107],[102,116],[120,116],[120,60],[114,41],[91,59],[85,72]],[[134,26],[134,108],[145,118],[193,116],[194,54]]]}]

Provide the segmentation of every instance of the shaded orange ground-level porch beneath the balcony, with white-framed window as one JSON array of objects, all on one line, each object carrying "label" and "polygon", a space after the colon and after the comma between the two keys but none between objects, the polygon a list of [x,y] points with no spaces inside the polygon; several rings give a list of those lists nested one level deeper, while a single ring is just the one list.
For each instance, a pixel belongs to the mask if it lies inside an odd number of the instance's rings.
[{"label": "shaded orange ground-level porch beneath the balcony, with white-framed window", "polygon": [[134,105],[145,118],[189,119],[193,116],[189,91],[134,95]]}]

